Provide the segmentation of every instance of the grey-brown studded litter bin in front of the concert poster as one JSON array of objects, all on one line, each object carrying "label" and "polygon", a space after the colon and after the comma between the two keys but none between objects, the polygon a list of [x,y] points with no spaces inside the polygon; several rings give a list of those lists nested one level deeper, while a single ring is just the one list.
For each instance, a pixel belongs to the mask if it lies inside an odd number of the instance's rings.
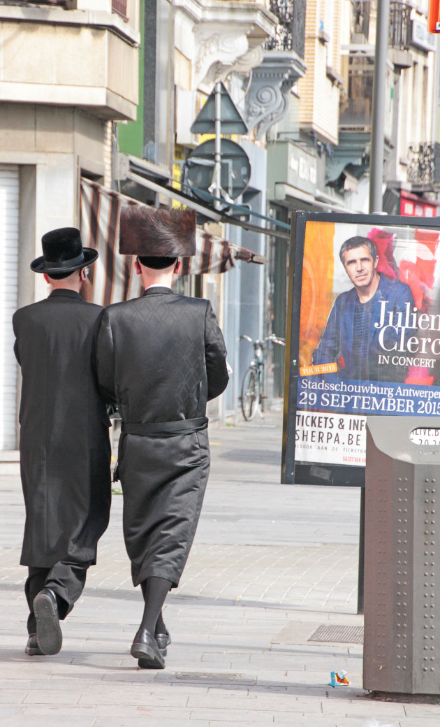
[{"label": "grey-brown studded litter bin in front of the concert poster", "polygon": [[439,481],[439,418],[367,419],[364,689],[440,694]]}]

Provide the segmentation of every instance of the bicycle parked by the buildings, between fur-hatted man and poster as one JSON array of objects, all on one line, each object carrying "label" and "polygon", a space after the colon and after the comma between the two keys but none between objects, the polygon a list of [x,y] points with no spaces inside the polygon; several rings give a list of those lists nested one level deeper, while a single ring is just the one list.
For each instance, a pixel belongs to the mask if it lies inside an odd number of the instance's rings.
[{"label": "bicycle parked by the buildings, between fur-hatted man and poster", "polygon": [[255,417],[257,411],[260,417],[263,417],[264,410],[264,351],[266,349],[266,341],[278,343],[285,346],[285,340],[278,336],[266,336],[264,339],[253,340],[245,334],[241,335],[239,341],[249,341],[253,345],[254,358],[250,361],[248,369],[243,376],[241,385],[240,403],[243,411],[243,417],[246,422],[250,422]]}]

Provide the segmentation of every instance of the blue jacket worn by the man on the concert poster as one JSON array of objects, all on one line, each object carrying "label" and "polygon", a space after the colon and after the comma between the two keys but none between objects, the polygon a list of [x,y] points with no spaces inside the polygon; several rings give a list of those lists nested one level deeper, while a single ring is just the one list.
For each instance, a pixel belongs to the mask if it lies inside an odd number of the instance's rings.
[{"label": "blue jacket worn by the man on the concert poster", "polygon": [[[333,303],[330,310],[327,325],[325,326],[322,338],[319,341],[318,348],[314,350],[312,361],[313,364],[333,364],[339,358],[343,358],[345,367],[340,369],[338,365],[338,376],[346,379],[358,379],[355,368],[355,350],[354,350],[354,310],[358,300],[357,292],[354,288],[341,293]],[[372,315],[370,321],[370,336],[368,345],[368,361],[367,371],[368,381],[404,381],[407,374],[405,366],[382,366],[378,363],[380,354],[387,354],[389,350],[399,342],[400,333],[388,328],[384,342],[388,350],[380,348],[378,329],[375,324],[380,321],[380,302],[387,301],[387,321],[388,313],[392,313],[394,319],[397,320],[396,314],[405,313],[405,305],[410,304],[412,311],[414,298],[410,286],[399,281],[386,278],[380,273],[378,289],[375,292],[373,300]],[[406,337],[409,337],[410,329]]]}]

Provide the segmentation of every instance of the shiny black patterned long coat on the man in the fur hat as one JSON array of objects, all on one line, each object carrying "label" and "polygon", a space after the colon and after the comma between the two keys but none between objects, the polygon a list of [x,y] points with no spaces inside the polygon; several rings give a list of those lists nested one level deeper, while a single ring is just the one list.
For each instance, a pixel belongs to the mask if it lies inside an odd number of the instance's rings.
[{"label": "shiny black patterned long coat on the man in the fur hat", "polygon": [[[202,507],[209,444],[206,429],[170,433],[173,425],[164,423],[200,422],[208,399],[227,386],[226,348],[211,303],[152,287],[110,305],[97,336],[97,373],[102,395],[118,404],[123,421],[119,473],[134,585],[157,576],[176,586]],[[139,424],[149,432],[124,433]]]}]

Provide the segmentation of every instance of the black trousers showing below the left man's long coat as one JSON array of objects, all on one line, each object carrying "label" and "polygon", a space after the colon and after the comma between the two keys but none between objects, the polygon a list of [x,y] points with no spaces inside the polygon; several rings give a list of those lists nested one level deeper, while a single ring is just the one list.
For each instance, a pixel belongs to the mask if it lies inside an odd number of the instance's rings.
[{"label": "black trousers showing below the left man's long coat", "polygon": [[86,574],[90,563],[68,563],[60,561],[52,568],[29,568],[25,582],[25,595],[30,614],[28,633],[36,633],[36,619],[33,613],[33,599],[43,588],[50,588],[57,596],[60,619],[70,614],[75,601],[78,601],[86,585]]}]

